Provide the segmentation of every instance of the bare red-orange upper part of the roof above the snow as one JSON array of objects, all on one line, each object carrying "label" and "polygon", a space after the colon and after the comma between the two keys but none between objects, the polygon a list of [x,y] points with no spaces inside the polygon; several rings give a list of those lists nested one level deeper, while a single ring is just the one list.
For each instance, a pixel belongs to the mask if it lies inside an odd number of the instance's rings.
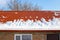
[{"label": "bare red-orange upper part of the roof above the snow", "polygon": [[40,20],[45,18],[46,21],[54,17],[59,18],[60,16],[55,16],[53,11],[0,11],[0,22],[13,21],[14,19],[31,19]]}]

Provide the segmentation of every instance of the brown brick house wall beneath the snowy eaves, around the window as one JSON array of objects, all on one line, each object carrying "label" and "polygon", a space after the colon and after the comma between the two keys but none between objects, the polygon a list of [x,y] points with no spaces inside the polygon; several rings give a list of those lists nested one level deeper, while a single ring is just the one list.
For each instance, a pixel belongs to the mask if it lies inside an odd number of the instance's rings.
[{"label": "brown brick house wall beneath the snowy eaves, around the window", "polygon": [[46,34],[52,33],[54,32],[0,32],[0,40],[14,40],[14,34],[32,34],[33,40],[46,40]]}]

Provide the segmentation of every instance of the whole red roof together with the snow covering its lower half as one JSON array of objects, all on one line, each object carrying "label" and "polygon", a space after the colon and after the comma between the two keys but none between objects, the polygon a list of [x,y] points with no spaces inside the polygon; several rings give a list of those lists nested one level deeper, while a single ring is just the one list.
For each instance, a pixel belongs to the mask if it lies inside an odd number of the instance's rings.
[{"label": "whole red roof together with the snow covering its lower half", "polygon": [[[0,30],[60,30],[60,16],[59,18],[54,17],[54,13],[51,11],[46,11],[46,14],[45,11],[37,12],[1,12],[0,17],[2,18],[0,18],[0,21],[6,22],[0,22]],[[24,21],[23,19],[27,20]]]}]

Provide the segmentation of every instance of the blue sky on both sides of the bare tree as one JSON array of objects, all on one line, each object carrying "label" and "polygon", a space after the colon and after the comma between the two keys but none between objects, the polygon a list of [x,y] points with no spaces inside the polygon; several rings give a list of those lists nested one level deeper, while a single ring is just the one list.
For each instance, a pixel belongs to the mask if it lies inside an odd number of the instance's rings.
[{"label": "blue sky on both sides of the bare tree", "polygon": [[[8,10],[7,3],[10,0],[0,0],[0,9]],[[60,10],[60,0],[22,0],[32,4],[38,4],[42,10]]]}]

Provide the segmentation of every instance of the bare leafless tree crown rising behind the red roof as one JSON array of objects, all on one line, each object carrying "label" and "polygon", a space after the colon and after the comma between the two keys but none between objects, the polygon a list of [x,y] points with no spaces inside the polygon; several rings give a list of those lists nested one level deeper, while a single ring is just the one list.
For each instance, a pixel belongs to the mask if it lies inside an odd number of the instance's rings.
[{"label": "bare leafless tree crown rising behind the red roof", "polygon": [[17,0],[14,0],[14,1],[10,1],[10,3],[8,3],[8,7],[11,9],[11,10],[15,10],[15,11],[36,11],[36,10],[40,10],[39,9],[39,6],[34,6],[31,4],[31,3],[27,3],[27,2],[24,2],[24,3],[21,3],[21,1],[18,3]]}]

